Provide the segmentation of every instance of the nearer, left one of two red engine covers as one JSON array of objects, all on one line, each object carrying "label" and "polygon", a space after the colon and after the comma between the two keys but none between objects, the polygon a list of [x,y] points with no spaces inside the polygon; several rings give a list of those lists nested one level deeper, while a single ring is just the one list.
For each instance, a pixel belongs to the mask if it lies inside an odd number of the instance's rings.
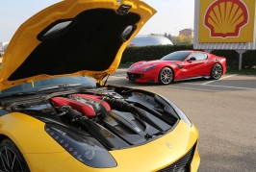
[{"label": "nearer, left one of two red engine covers", "polygon": [[54,97],[54,98],[51,98],[51,100],[56,107],[62,107],[64,105],[67,105],[76,111],[80,111],[81,113],[88,116],[89,118],[93,118],[96,116],[95,111],[88,104],[84,104],[82,102],[64,98],[64,97]]}]

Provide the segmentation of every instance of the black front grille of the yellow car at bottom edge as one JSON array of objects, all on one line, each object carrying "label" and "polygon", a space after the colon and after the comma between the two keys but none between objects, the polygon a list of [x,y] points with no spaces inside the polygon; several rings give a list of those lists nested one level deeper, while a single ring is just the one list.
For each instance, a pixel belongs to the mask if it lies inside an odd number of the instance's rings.
[{"label": "black front grille of the yellow car at bottom edge", "polygon": [[194,150],[196,144],[192,147],[192,149],[180,160],[170,164],[166,168],[160,170],[159,172],[189,172]]}]

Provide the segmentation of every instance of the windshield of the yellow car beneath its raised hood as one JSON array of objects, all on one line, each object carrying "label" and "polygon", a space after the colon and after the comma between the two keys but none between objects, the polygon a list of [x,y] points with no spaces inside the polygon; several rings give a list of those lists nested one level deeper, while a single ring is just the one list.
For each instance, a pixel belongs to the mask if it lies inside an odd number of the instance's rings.
[{"label": "windshield of the yellow car beneath its raised hood", "polygon": [[96,86],[89,77],[60,77],[46,80],[39,80],[18,86],[13,86],[1,91],[1,94],[31,92],[47,89],[53,86]]}]

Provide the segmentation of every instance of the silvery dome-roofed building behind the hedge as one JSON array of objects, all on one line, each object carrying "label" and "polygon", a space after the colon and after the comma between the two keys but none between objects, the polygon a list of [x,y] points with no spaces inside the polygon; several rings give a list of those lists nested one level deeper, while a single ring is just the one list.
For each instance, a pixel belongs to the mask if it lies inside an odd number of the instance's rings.
[{"label": "silvery dome-roofed building behind the hedge", "polygon": [[132,39],[129,46],[152,46],[152,45],[172,45],[172,42],[163,36],[137,36]]}]

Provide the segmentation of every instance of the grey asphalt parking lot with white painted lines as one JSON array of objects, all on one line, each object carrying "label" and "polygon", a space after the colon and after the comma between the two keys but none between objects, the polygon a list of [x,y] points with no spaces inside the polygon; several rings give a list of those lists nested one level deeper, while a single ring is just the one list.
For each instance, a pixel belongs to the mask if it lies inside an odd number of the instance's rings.
[{"label": "grey asphalt parking lot with white painted lines", "polygon": [[224,75],[168,86],[127,81],[118,69],[108,84],[154,91],[178,105],[199,130],[199,171],[255,171],[256,76]]}]

